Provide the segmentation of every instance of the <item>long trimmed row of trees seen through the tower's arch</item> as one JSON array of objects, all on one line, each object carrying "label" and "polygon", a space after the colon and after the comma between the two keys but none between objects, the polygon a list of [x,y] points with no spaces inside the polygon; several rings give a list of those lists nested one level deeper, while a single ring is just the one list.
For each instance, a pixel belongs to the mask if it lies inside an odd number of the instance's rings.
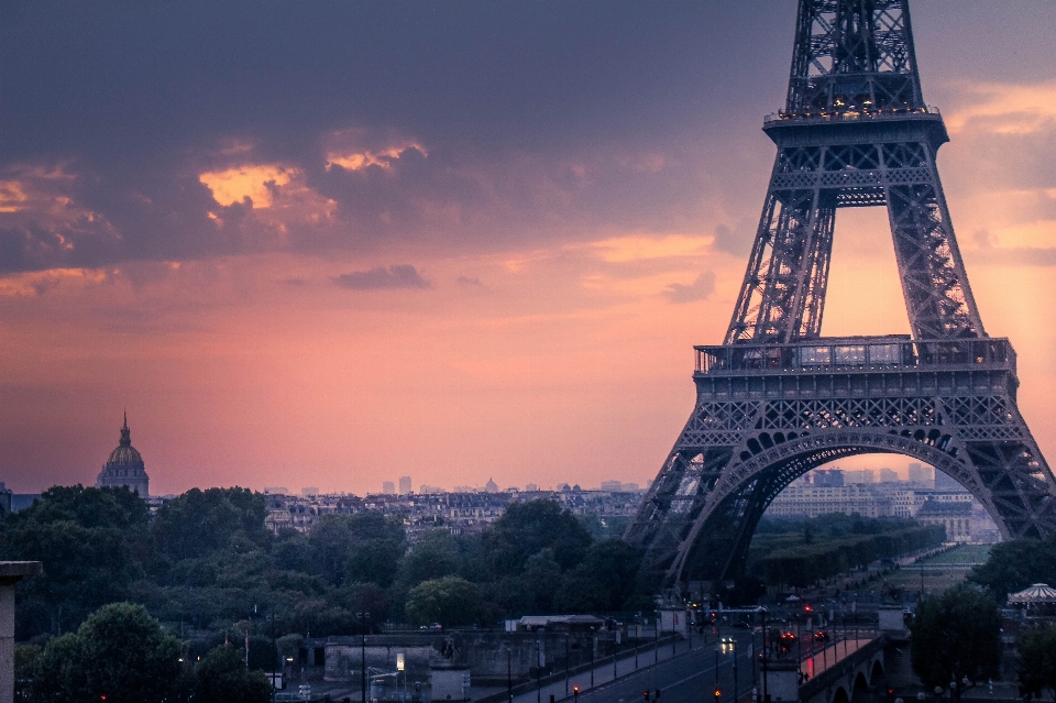
[{"label": "long trimmed row of trees seen through the tower's arch", "polygon": [[760,532],[749,553],[749,572],[767,585],[794,587],[946,540],[941,525],[844,515],[768,520]]}]

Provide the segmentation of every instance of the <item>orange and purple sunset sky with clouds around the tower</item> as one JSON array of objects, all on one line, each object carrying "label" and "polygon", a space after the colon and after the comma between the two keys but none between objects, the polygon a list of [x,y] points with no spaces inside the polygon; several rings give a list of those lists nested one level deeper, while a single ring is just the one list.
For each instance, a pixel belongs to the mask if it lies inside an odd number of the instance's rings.
[{"label": "orange and purple sunset sky with clouds around the tower", "polygon": [[[645,484],[729,321],[792,0],[4,3],[0,481]],[[988,333],[1056,458],[1056,11],[916,0]],[[825,334],[908,332],[842,210]],[[850,468],[850,466],[848,466]]]}]

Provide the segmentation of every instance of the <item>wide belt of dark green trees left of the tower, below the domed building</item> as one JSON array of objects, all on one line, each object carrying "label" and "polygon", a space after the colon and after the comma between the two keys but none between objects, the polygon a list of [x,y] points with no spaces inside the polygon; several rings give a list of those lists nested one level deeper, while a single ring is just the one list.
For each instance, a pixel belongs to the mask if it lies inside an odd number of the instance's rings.
[{"label": "wide belt of dark green trees left of the tower, below the domed building", "polygon": [[441,527],[414,545],[399,517],[323,515],[308,534],[274,535],[265,515],[244,488],[195,488],[152,516],[125,488],[53,487],[0,524],[0,558],[44,564],[18,586],[16,638],[44,642],[114,602],[144,605],[204,651],[228,635],[270,644],[273,623],[279,638],[353,634],[358,613],[367,627],[492,625],[650,603],[640,554],[549,501],[514,504],[483,534]]}]

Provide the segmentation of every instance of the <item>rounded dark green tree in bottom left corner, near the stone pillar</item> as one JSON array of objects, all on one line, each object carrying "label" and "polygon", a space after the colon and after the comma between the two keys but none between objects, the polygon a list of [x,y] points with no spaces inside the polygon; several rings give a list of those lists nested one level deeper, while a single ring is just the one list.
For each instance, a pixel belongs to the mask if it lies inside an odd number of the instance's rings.
[{"label": "rounded dark green tree in bottom left corner, near the stone pillar", "polygon": [[161,703],[180,677],[179,641],[141,605],[105,605],[47,644],[34,694],[58,703]]}]

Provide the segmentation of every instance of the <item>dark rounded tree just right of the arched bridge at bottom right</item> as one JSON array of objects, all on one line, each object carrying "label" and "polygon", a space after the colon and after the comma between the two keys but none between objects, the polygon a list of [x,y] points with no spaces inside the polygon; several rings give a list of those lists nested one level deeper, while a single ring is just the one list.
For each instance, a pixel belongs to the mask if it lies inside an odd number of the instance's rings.
[{"label": "dark rounded tree just right of the arched bridge at bottom right", "polygon": [[910,662],[928,688],[997,677],[1001,615],[993,598],[967,584],[921,601],[910,625]]}]

